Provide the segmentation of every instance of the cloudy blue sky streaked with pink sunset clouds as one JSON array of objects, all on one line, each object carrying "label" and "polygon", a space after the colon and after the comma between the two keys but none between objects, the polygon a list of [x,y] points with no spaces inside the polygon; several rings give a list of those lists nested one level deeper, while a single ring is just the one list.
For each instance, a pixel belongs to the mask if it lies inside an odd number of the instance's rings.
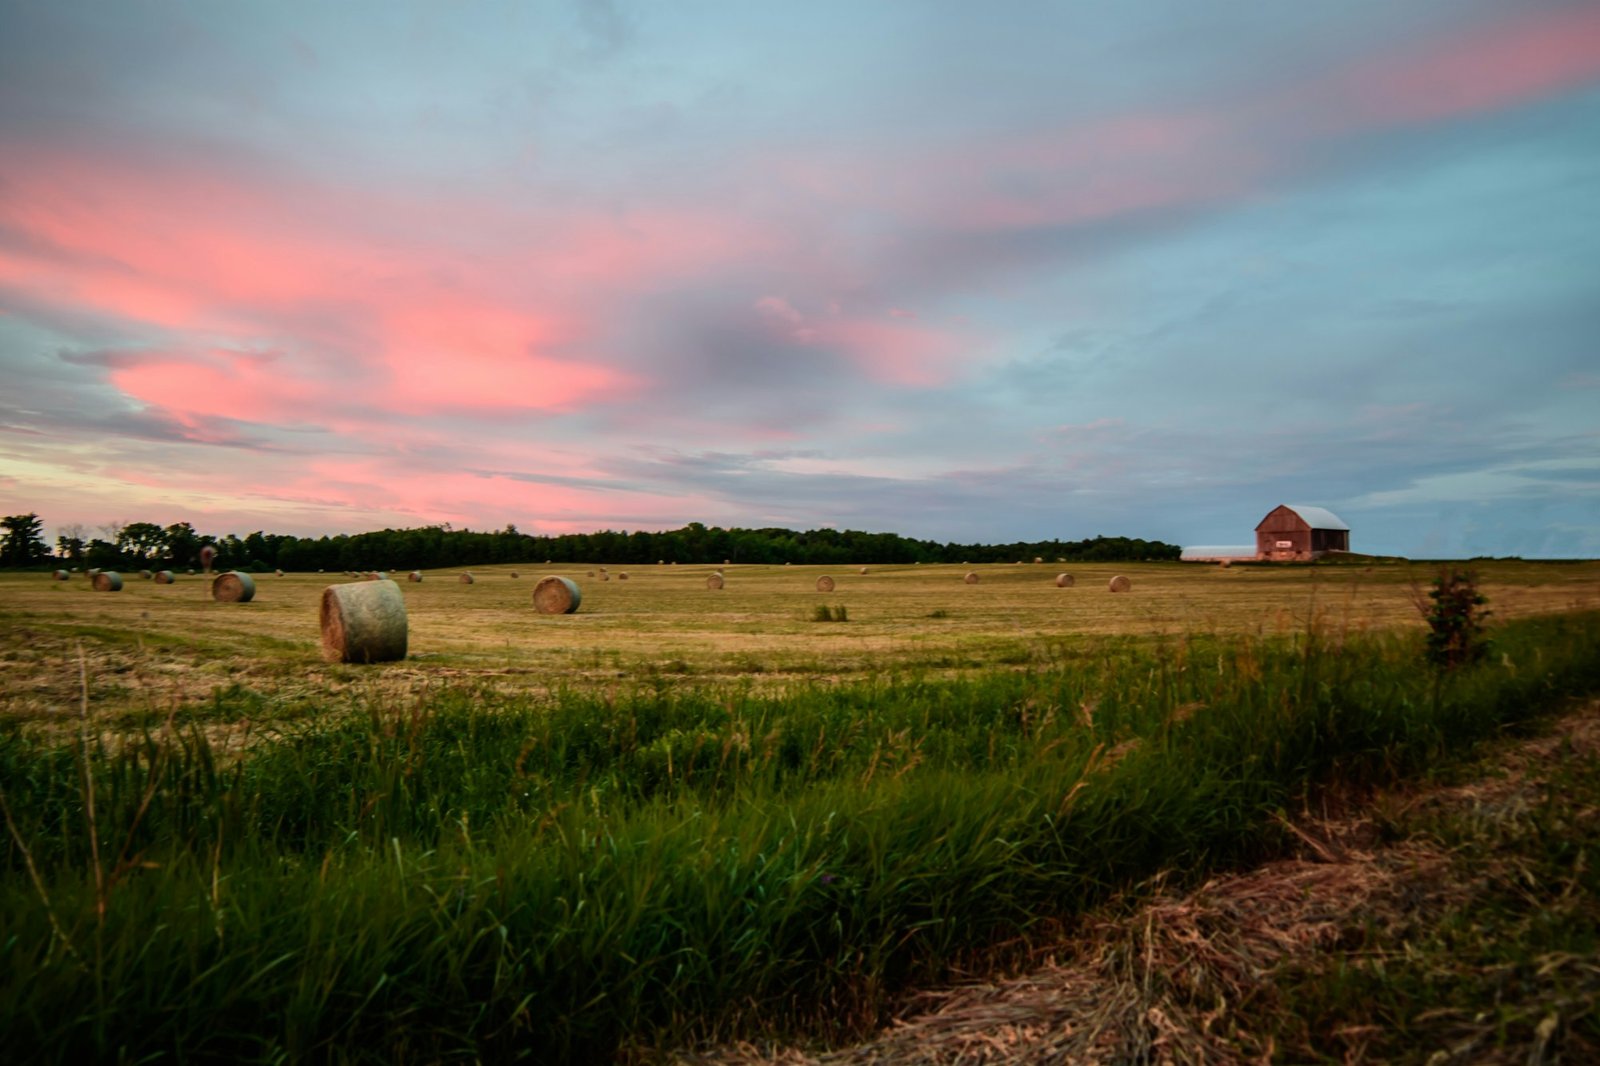
[{"label": "cloudy blue sky streaked with pink sunset clouds", "polygon": [[0,0],[0,512],[1600,555],[1600,2]]}]

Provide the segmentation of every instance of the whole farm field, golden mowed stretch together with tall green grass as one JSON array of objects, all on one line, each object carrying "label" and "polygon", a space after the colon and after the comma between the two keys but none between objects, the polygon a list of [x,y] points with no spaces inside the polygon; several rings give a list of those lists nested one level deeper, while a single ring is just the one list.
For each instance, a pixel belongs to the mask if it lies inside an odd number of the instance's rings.
[{"label": "whole farm field, golden mowed stretch together with tall green grass", "polygon": [[[8,1048],[848,1042],[1600,691],[1600,563],[1478,567],[1493,653],[1450,672],[1424,565],[512,570],[402,581],[410,656],[373,666],[320,656],[342,575],[0,576]],[[579,613],[533,611],[542,573]]]}]

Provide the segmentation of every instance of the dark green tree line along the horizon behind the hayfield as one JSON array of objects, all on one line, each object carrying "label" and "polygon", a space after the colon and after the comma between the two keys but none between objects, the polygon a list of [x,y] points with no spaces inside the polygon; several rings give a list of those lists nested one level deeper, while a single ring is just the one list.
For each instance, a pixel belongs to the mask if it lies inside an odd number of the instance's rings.
[{"label": "dark green tree line along the horizon behind the hayfield", "polygon": [[82,525],[58,530],[54,549],[37,514],[0,519],[0,567],[82,565],[99,568],[187,568],[210,546],[224,570],[437,570],[504,562],[552,563],[998,563],[1176,560],[1182,549],[1130,536],[1080,541],[958,544],[859,530],[742,530],[690,522],[661,533],[600,530],[536,536],[515,525],[499,531],[427,525],[338,536],[290,536],[256,530],[210,536],[189,522],[112,522],[90,536]]}]

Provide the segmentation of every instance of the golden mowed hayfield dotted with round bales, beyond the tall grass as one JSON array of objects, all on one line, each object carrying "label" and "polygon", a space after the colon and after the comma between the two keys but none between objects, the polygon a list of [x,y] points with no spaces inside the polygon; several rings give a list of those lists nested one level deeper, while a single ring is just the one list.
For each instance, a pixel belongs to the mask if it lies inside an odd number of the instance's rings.
[{"label": "golden mowed hayfield dotted with round bales, beyond the tall grass", "polygon": [[[1475,563],[1494,618],[1600,607],[1600,562]],[[1421,629],[1416,597],[1435,565],[504,565],[397,573],[410,624],[403,663],[322,659],[318,602],[344,575],[258,575],[250,603],[218,603],[203,575],[158,586],[123,575],[94,592],[85,575],[0,575],[0,707],[10,717],[77,714],[82,648],[91,709],[194,709],[218,688],[259,712],[294,714],[349,688],[395,695],[438,685],[499,690],[854,680],[1059,663],[1112,639]],[[707,576],[726,575],[723,589]],[[979,576],[966,584],[963,576]],[[512,575],[517,576],[512,576]],[[602,579],[602,573],[608,578]],[[622,575],[627,575],[626,578]],[[1070,573],[1072,587],[1056,587]],[[582,589],[574,615],[533,608],[541,576]],[[1114,575],[1131,579],[1112,594]],[[830,576],[832,592],[816,581]],[[848,621],[816,621],[818,607]]]}]

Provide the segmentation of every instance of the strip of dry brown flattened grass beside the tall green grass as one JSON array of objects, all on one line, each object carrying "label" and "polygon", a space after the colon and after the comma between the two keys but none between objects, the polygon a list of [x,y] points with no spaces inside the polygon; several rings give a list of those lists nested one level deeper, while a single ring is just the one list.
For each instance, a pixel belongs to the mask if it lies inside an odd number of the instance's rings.
[{"label": "strip of dry brown flattened grass beside the tall green grass", "polygon": [[[1552,776],[1574,762],[1600,767],[1600,703],[1558,719],[1534,739],[1506,744],[1477,765],[1467,784],[1400,787],[1358,812],[1290,826],[1301,842],[1293,858],[1216,877],[1184,895],[1157,892],[1128,914],[1091,917],[1056,959],[1024,976],[923,992],[866,1044],[826,1053],[738,1045],[680,1061],[1394,1061],[1394,1039],[1381,1037],[1395,1034],[1371,1018],[1312,1034],[1280,996],[1280,981],[1352,959],[1376,960],[1382,973],[1384,957],[1410,952],[1446,914],[1501,882],[1528,877],[1526,866],[1496,871],[1493,858],[1483,861],[1418,826],[1482,823],[1493,836],[1526,821],[1541,804],[1563,804]],[[1594,802],[1594,792],[1571,799],[1579,840],[1600,821]],[[1584,866],[1579,848],[1578,874]],[[1579,880],[1574,876],[1562,892],[1570,895]],[[1538,892],[1525,893],[1528,909],[1549,912]],[[1578,903],[1594,914],[1592,898]],[[1494,1010],[1440,1002],[1414,1013],[1402,1058],[1427,1066],[1600,1061],[1589,1058],[1600,1052],[1586,1036],[1592,1026],[1573,1029],[1595,1010],[1600,954],[1550,952],[1539,964],[1541,980],[1515,986],[1526,1002],[1496,992]],[[1285,1047],[1285,1032],[1301,1039]]]}]

